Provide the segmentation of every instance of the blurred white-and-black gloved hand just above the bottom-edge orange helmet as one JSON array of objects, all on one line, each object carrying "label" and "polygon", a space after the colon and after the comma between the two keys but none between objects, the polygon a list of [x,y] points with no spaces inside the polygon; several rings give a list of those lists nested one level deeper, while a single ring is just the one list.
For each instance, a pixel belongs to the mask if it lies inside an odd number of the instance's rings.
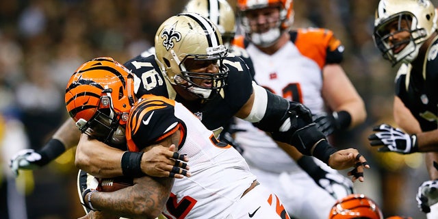
[{"label": "blurred white-and-black gloved hand just above the bottom-edge orange helmet", "polygon": [[329,192],[336,200],[353,193],[352,182],[337,172],[327,172],[318,167],[310,175],[315,183]]}]

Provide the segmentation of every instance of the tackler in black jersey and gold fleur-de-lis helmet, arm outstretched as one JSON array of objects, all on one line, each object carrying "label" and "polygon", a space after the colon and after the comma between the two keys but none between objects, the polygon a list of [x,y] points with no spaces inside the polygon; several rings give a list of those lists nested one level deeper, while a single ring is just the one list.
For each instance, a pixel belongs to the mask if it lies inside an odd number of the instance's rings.
[{"label": "tackler in black jersey and gold fleur-de-lis helmet, arm outstretched", "polygon": [[[157,31],[155,51],[125,63],[136,75],[136,96],[155,94],[179,101],[210,130],[220,131],[232,116],[244,118],[272,133],[276,140],[294,145],[303,154],[313,155],[332,168],[345,169],[357,164],[350,175],[353,181],[363,181],[363,168],[369,168],[362,164],[365,158],[356,149],[337,151],[330,146],[312,123],[307,107],[253,83],[246,64],[227,53],[220,33],[207,19],[198,14],[178,14],[168,19]],[[191,62],[194,59],[210,61],[192,66],[196,63]],[[73,122],[66,123],[70,123],[67,129],[77,133]],[[105,162],[96,159],[102,154]],[[144,156],[120,165],[126,154],[96,140],[81,139],[75,164],[96,177],[123,173],[136,177],[147,173],[137,168],[143,167],[140,164]]]}]

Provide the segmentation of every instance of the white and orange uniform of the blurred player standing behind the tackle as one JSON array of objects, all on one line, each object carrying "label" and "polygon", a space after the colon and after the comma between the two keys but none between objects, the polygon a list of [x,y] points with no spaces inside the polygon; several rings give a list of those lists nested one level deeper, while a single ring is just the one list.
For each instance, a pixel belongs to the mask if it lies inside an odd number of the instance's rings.
[{"label": "white and orange uniform of the blurred player standing behind the tackle", "polygon": [[[331,31],[324,29],[298,29],[291,31],[290,36],[291,40],[272,55],[243,38],[237,38],[235,43],[249,54],[254,79],[260,86],[320,114],[325,110],[322,68],[342,60],[342,54],[330,52],[342,45]],[[279,195],[289,214],[302,219],[326,218],[335,198],[320,188],[264,131],[245,120],[237,119],[236,123],[236,129],[245,130],[237,131],[235,140],[244,149],[243,156],[251,171],[258,181]],[[320,160],[315,162],[324,170],[335,172]]]}]

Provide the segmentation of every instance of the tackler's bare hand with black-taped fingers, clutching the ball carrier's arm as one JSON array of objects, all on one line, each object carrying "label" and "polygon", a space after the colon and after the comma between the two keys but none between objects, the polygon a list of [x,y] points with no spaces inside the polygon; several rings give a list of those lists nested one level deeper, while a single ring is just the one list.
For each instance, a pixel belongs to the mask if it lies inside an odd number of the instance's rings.
[{"label": "tackler's bare hand with black-taped fingers, clutching the ball carrier's arm", "polygon": [[190,177],[187,165],[188,157],[180,155],[175,151],[175,145],[164,147],[154,146],[151,150],[144,152],[142,156],[142,171],[151,177],[175,177],[182,179]]}]

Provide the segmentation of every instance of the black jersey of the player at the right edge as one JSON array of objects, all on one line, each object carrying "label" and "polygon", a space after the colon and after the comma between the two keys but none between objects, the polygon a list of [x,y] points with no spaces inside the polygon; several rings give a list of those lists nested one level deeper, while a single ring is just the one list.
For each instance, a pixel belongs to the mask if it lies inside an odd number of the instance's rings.
[{"label": "black jersey of the player at the right edge", "polygon": [[420,123],[422,131],[437,129],[438,113],[438,38],[430,44],[424,68],[402,64],[396,77],[396,95]]}]

